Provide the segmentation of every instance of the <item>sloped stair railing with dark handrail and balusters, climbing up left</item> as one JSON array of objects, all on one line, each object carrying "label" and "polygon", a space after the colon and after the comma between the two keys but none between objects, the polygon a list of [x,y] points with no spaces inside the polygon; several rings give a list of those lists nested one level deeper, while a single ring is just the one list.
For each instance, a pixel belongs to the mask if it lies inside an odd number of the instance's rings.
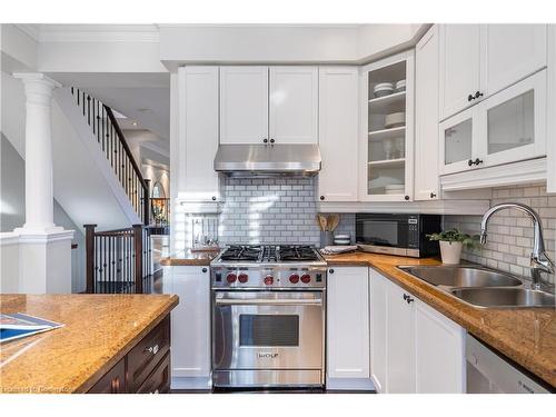
[{"label": "sloped stair railing with dark handrail and balusters, climbing up left", "polygon": [[149,182],[143,179],[110,107],[71,87],[71,95],[143,225],[150,220]]}]

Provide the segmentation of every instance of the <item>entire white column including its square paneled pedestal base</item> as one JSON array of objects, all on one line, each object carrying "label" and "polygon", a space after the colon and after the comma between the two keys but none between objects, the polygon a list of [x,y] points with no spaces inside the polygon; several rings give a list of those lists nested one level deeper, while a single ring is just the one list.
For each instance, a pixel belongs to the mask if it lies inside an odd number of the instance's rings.
[{"label": "entire white column including its square paneled pedestal base", "polygon": [[19,292],[71,292],[73,230],[53,221],[51,105],[61,85],[42,73],[14,73],[26,90],[26,222],[19,235]]}]

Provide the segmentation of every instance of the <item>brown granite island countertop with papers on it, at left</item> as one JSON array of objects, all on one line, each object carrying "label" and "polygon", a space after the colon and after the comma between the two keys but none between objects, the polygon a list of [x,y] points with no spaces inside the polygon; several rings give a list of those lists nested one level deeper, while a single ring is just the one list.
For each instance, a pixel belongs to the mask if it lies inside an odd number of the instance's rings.
[{"label": "brown granite island countertop with papers on it, at left", "polygon": [[177,306],[172,295],[0,295],[64,327],[0,347],[0,393],[85,393]]}]

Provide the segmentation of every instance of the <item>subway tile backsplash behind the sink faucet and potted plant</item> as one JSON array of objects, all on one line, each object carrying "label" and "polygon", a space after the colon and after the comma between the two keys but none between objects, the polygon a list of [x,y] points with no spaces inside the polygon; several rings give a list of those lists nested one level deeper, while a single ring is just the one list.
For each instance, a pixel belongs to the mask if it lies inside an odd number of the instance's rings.
[{"label": "subway tile backsplash behind the sink faucet and potted plant", "polygon": [[[530,185],[493,190],[492,206],[500,202],[522,202],[530,206],[542,218],[547,254],[556,258],[556,196],[546,187]],[[470,235],[480,234],[480,216],[445,216],[444,228],[458,228]],[[464,250],[463,258],[490,268],[530,276],[529,256],[533,249],[533,224],[520,211],[503,210],[488,224],[488,242],[479,250]],[[547,277],[554,284],[554,276]]]}]

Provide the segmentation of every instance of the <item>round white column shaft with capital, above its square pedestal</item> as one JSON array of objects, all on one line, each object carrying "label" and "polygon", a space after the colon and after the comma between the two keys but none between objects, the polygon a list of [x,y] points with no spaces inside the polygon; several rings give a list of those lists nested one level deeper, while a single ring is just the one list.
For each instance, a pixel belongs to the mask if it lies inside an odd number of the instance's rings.
[{"label": "round white column shaft with capital, above its square pedestal", "polygon": [[20,234],[59,231],[53,222],[52,90],[61,85],[42,73],[14,73],[26,89],[26,224]]}]

